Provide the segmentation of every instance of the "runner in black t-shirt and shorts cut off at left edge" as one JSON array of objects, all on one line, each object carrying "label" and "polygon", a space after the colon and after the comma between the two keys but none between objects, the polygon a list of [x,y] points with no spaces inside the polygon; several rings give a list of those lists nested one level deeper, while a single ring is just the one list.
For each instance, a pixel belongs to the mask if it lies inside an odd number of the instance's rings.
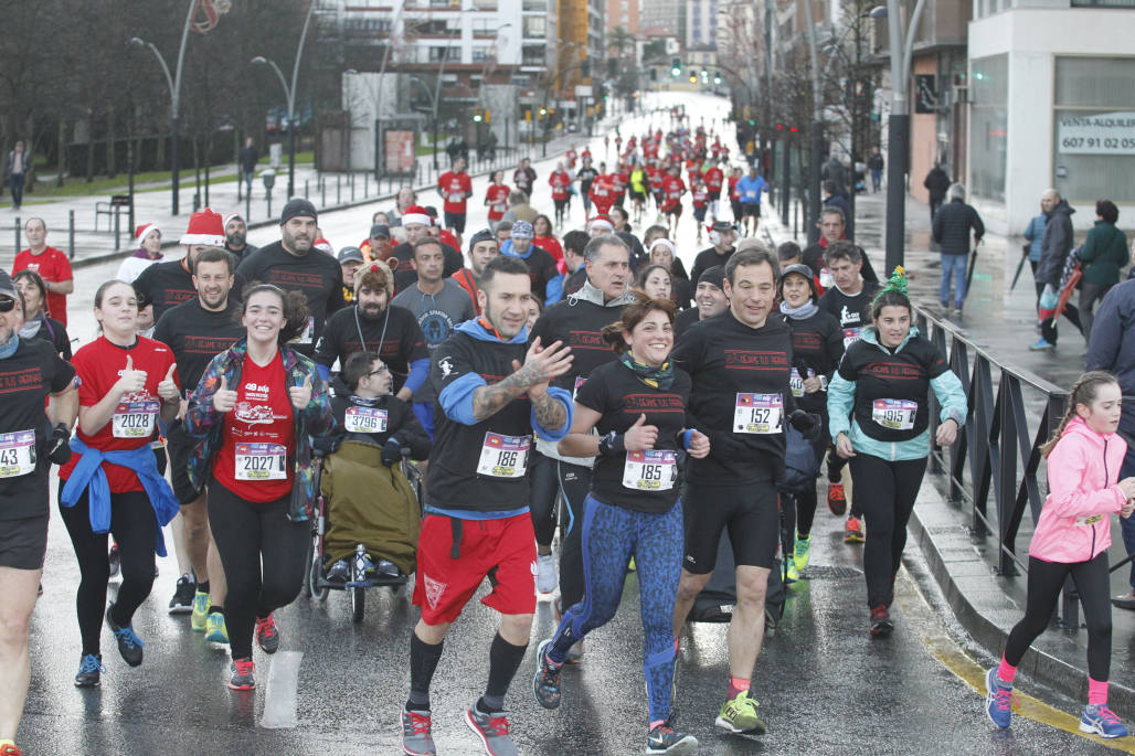
[{"label": "runner in black t-shirt and shorts cut off at left edge", "polygon": [[[22,339],[24,300],[0,271],[0,736],[12,738],[27,695],[27,629],[48,551],[48,472],[70,459],[75,369],[42,338]],[[48,401],[48,412],[43,404]],[[12,746],[15,747],[15,746]]]}]

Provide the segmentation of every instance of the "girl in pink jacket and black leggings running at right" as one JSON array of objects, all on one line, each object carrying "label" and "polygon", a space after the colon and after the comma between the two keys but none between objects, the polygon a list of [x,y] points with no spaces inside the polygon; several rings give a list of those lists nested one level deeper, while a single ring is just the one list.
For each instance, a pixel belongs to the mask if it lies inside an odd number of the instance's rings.
[{"label": "girl in pink jacket and black leggings running at right", "polygon": [[1071,388],[1068,412],[1041,447],[1048,460],[1049,497],[1028,547],[1028,602],[1009,632],[1000,666],[985,675],[985,712],[999,728],[1012,720],[1012,678],[1032,642],[1048,628],[1070,574],[1087,621],[1087,706],[1079,729],[1123,738],[1127,728],[1108,708],[1111,604],[1108,547],[1111,514],[1132,514],[1135,478],[1119,478],[1127,443],[1116,434],[1121,392],[1109,372],[1085,372]]}]

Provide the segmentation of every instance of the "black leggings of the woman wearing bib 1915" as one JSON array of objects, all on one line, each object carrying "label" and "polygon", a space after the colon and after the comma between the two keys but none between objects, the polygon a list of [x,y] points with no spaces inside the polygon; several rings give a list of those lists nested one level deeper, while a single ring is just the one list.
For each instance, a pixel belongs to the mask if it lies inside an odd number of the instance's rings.
[{"label": "black leggings of the woman wearing bib 1915", "polygon": [[867,577],[867,606],[890,606],[894,600],[894,574],[907,545],[907,521],[915,509],[926,457],[888,462],[871,454],[851,457],[851,484],[867,523],[863,566]]}]

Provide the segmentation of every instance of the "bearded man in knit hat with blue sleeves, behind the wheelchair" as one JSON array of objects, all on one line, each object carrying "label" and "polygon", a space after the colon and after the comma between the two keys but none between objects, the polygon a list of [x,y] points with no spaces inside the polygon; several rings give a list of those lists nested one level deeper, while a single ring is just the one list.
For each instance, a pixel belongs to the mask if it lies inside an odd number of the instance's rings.
[{"label": "bearded man in knit hat with blue sleeves, behind the wheelchair", "polygon": [[[316,367],[327,380],[338,361],[346,364],[355,352],[376,352],[390,369],[394,390],[410,402],[429,377],[426,338],[414,313],[389,304],[394,276],[385,262],[375,260],[355,271],[355,304],[327,321],[316,344]],[[335,384],[336,393],[345,386]]]}]

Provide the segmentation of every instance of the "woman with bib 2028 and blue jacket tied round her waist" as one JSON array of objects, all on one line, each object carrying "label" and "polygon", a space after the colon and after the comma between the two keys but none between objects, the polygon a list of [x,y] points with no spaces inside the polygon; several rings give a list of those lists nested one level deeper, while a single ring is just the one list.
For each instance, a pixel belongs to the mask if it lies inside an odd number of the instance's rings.
[{"label": "woman with bib 2028 and blue jacket tied round her waist", "polygon": [[[150,450],[159,415],[170,422],[180,409],[174,353],[137,335],[137,300],[129,284],[100,286],[94,317],[102,335],[72,360],[79,380],[78,432],[72,439],[76,454],[59,468],[59,513],[82,574],[76,613],[83,657],[75,677],[81,688],[98,686],[106,671],[99,647],[103,612],[126,663],[142,663],[132,619],[153,586],[154,553],[166,555],[161,527],[178,509]],[[123,571],[109,607],[108,531],[118,541]]]}]

